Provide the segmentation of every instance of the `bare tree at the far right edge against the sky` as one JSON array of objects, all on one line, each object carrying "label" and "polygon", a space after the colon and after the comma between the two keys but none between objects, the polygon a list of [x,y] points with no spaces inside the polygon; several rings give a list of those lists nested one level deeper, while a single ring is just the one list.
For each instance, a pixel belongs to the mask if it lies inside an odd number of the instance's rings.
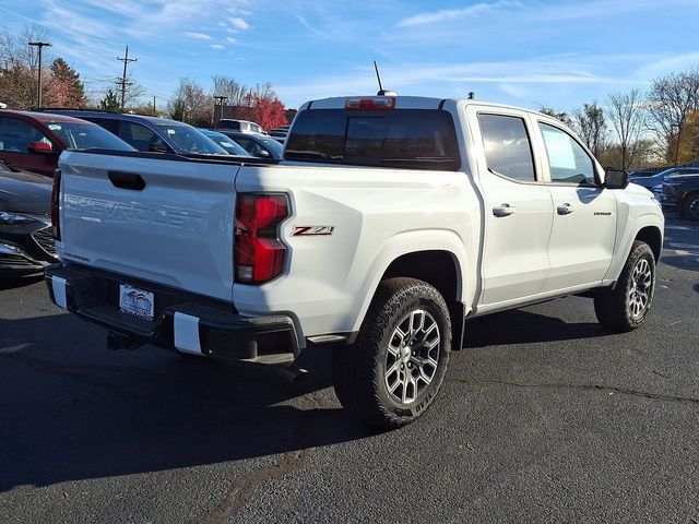
[{"label": "bare tree at the far right edge against the sky", "polygon": [[666,162],[677,165],[687,118],[699,109],[699,69],[653,81],[648,94],[650,127],[661,140]]}]

